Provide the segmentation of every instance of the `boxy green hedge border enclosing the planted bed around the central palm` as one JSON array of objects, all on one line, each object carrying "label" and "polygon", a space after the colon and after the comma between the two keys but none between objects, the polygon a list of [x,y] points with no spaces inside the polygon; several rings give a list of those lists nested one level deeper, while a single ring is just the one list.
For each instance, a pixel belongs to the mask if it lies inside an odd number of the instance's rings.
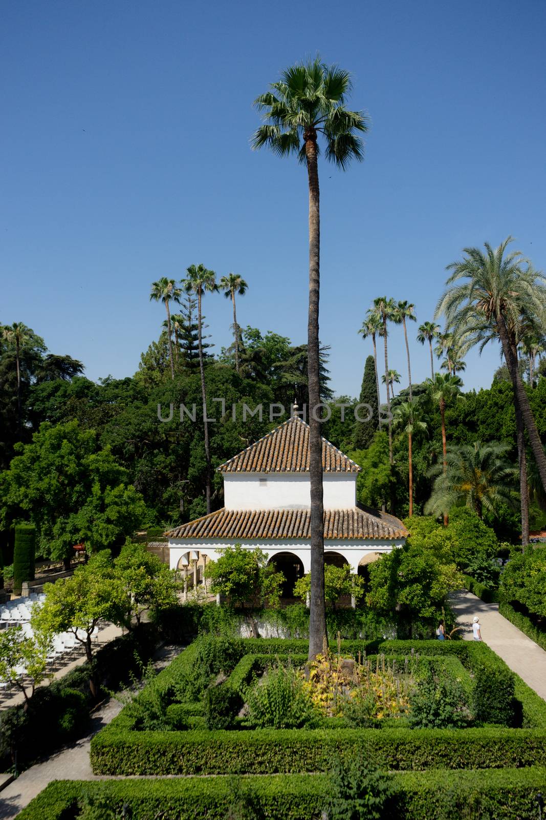
[{"label": "boxy green hedge border enclosing the planted bed around the central palm", "polygon": [[[332,647],[333,649],[333,647]],[[342,641],[341,656],[373,654],[403,663],[427,657],[472,689],[472,710],[481,727],[464,729],[331,728],[209,731],[199,703],[220,671],[231,671],[225,686],[241,694],[252,673],[275,656],[304,663],[303,640],[198,639],[175,658],[139,696],[167,706],[172,726],[187,731],[137,731],[134,710],[124,708],[93,738],[93,771],[106,775],[271,774],[327,772],[340,753],[362,750],[386,770],[528,767],[546,754],[546,704],[483,644],[463,641]],[[418,654],[418,658],[417,658]],[[443,658],[441,656],[444,656]],[[459,663],[460,662],[460,663]],[[491,724],[499,724],[495,727]],[[324,724],[323,724],[324,725]],[[342,725],[342,724],[341,724]],[[501,728],[501,727],[526,728]]]}]

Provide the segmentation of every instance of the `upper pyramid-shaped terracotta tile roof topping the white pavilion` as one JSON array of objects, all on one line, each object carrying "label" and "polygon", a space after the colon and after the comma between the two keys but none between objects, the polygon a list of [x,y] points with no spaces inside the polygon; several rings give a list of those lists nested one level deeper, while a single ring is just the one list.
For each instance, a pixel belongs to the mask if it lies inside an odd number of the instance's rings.
[{"label": "upper pyramid-shaped terracotta tile roof topping the white pavilion", "polygon": [[[309,425],[293,416],[242,453],[220,464],[220,472],[309,472]],[[324,472],[359,472],[331,442],[323,439]]]}]

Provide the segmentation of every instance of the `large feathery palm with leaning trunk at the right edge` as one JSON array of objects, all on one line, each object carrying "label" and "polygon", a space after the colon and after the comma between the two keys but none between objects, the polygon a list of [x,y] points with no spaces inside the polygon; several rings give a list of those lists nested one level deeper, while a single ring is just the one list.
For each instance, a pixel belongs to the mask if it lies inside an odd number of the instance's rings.
[{"label": "large feathery palm with leaning trunk at the right edge", "polygon": [[436,315],[444,314],[449,329],[463,339],[465,351],[478,342],[483,346],[488,331],[500,339],[512,380],[516,415],[521,415],[546,490],[546,456],[514,345],[519,342],[517,333],[522,321],[538,328],[546,324],[546,277],[535,271],[520,251],[506,252],[512,241],[509,236],[498,248],[485,243],[485,252],[463,248],[463,259],[447,266],[451,276],[436,306]]}]

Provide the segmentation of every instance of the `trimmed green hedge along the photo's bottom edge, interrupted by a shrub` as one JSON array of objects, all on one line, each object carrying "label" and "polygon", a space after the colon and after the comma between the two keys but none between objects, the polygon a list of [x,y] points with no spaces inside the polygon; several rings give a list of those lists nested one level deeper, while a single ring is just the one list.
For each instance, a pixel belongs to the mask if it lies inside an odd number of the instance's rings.
[{"label": "trimmed green hedge along the photo's bottom edge, interrupted by a shrub", "polygon": [[[481,772],[404,772],[392,777],[390,816],[405,820],[536,820],[538,793],[546,792],[546,769]],[[177,820],[225,820],[254,805],[269,820],[314,820],[326,804],[324,775],[188,777],[183,780],[53,781],[23,809],[18,820],[74,820],[83,795],[106,800],[120,816],[124,804],[132,820],[165,816]],[[472,812],[472,814],[470,813]]]}]

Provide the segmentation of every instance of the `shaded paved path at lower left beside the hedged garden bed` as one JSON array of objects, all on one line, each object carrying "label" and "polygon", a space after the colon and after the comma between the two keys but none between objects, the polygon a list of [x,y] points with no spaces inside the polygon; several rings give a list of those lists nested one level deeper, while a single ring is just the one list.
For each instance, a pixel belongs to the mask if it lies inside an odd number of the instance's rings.
[{"label": "shaded paved path at lower left beside the hedged garden bed", "polygon": [[[156,653],[154,667],[159,672],[181,651],[179,646],[165,646]],[[87,737],[52,754],[43,763],[26,769],[20,777],[0,791],[0,820],[11,820],[24,809],[30,800],[45,789],[52,780],[105,780],[91,770],[89,749],[91,738],[121,711],[122,704],[108,700],[92,716],[92,727]]]}]

